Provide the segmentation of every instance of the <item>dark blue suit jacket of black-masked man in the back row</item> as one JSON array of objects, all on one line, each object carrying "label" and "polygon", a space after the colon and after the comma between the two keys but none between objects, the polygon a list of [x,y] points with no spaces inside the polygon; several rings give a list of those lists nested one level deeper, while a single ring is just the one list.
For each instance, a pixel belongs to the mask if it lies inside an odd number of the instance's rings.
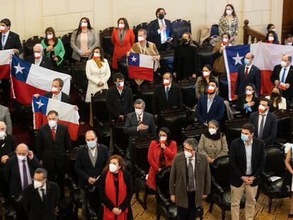
[{"label": "dark blue suit jacket of black-masked man in the back row", "polygon": [[[168,40],[168,37],[173,38],[173,28],[172,28],[172,23],[168,19],[164,19],[165,25],[166,25],[166,40]],[[156,45],[156,48],[160,50],[161,48],[161,33],[158,33],[159,30],[159,21],[158,18],[156,18],[154,21],[151,21],[149,23],[149,41],[154,42]]]}]

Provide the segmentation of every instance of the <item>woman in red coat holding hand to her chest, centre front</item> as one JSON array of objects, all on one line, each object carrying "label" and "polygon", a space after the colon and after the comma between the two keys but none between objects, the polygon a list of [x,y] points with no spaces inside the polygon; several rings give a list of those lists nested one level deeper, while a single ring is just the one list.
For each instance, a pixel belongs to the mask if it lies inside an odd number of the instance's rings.
[{"label": "woman in red coat holding hand to her chest, centre front", "polygon": [[170,130],[167,127],[161,127],[159,129],[159,138],[156,141],[151,141],[149,145],[147,159],[151,168],[149,168],[146,185],[156,190],[156,173],[160,172],[161,168],[172,166],[173,158],[176,154],[177,144],[176,141],[171,141]]}]

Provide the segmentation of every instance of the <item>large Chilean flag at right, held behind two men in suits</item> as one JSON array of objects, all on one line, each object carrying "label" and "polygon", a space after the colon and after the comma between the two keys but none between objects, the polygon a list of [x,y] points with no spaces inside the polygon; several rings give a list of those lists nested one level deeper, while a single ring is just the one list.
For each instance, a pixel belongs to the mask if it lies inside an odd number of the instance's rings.
[{"label": "large Chilean flag at right, held behind two men in suits", "polygon": [[226,47],[224,50],[224,59],[226,65],[227,79],[229,85],[229,100],[234,100],[235,84],[238,68],[244,63],[246,53],[251,52],[254,55],[253,65],[260,69],[261,73],[261,91],[267,95],[271,93],[272,83],[270,75],[275,65],[282,61],[284,54],[293,55],[293,47],[287,45],[274,45],[259,42],[251,45],[240,45]]}]

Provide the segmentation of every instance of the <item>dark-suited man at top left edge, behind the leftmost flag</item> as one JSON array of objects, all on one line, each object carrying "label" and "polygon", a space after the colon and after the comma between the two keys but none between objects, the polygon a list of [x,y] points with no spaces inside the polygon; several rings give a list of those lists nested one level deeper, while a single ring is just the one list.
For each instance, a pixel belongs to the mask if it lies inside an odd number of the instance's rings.
[{"label": "dark-suited man at top left edge, behind the leftmost flag", "polygon": [[[13,33],[10,30],[11,21],[8,18],[4,18],[0,21],[0,50],[10,50],[13,49],[13,53],[19,55],[23,52],[23,47],[21,46],[21,40],[19,35]],[[3,92],[1,94],[1,99],[4,104],[9,103],[10,99],[10,83],[9,79],[2,79]]]}]

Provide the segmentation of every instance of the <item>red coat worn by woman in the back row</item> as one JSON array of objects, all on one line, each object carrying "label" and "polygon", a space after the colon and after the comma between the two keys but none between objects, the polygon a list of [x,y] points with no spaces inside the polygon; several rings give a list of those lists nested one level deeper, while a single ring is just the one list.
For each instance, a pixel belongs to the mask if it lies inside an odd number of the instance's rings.
[{"label": "red coat worn by woman in the back row", "polygon": [[113,52],[113,62],[112,67],[114,69],[118,69],[117,59],[125,56],[128,51],[130,51],[132,45],[134,44],[134,33],[132,29],[125,30],[125,37],[122,42],[120,42],[120,38],[118,36],[118,29],[114,28],[111,41],[114,45]]}]

